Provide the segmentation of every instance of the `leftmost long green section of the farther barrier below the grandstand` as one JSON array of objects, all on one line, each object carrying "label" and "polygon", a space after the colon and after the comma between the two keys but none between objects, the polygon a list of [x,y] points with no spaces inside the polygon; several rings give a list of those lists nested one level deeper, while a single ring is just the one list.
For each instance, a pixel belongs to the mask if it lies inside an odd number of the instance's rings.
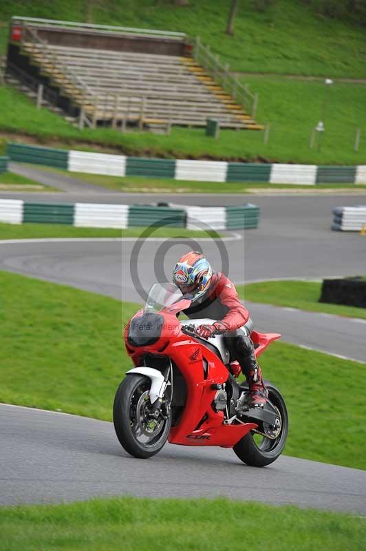
[{"label": "leftmost long green section of the farther barrier below the grandstand", "polygon": [[19,163],[67,169],[69,158],[67,149],[9,143],[6,152],[11,160],[16,160]]}]

